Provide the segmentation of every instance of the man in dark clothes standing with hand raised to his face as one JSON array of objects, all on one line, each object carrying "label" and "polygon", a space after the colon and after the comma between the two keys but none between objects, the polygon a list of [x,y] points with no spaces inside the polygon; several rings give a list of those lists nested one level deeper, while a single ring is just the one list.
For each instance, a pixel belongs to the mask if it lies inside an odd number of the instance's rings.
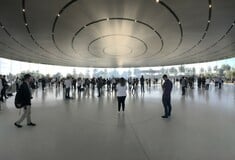
[{"label": "man in dark clothes standing with hand raised to his face", "polygon": [[171,116],[171,90],[172,82],[168,79],[167,75],[163,75],[164,83],[162,85],[163,94],[162,94],[162,103],[164,106],[165,114],[162,118],[168,118]]}]

